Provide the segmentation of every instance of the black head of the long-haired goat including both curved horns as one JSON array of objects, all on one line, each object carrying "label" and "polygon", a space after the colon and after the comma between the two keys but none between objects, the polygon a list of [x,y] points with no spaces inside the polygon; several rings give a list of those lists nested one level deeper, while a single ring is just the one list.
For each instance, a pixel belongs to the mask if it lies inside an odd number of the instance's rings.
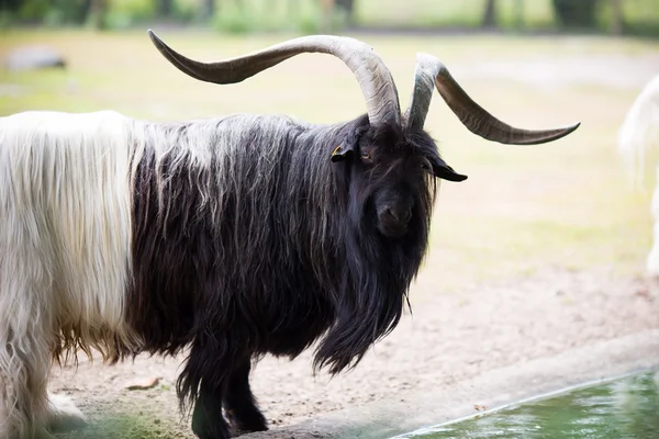
[{"label": "black head of the long-haired goat including both curved horns", "polygon": [[579,126],[543,131],[512,127],[472,101],[446,67],[425,54],[417,55],[412,100],[402,113],[389,69],[371,47],[354,38],[305,36],[237,58],[200,63],[177,53],[152,31],[148,34],[175,67],[214,83],[243,81],[301,53],[325,53],[342,59],[359,82],[367,117],[356,121],[355,132],[340,145],[332,146],[327,159],[347,167],[351,201],[356,202],[351,213],[360,218],[372,216],[377,229],[389,238],[404,236],[428,219],[434,178],[467,179],[439,157],[435,142],[423,130],[435,88],[468,130],[489,140],[541,144],[563,137]]}]

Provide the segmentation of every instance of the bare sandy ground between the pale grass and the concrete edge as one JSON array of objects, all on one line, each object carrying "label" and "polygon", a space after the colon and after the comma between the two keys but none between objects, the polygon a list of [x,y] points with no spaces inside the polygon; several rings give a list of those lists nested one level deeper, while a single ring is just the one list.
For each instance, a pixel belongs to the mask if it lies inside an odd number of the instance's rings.
[{"label": "bare sandy ground between the pale grass and the concrete edge", "polygon": [[[420,291],[426,288],[432,283],[415,289],[413,316],[407,314],[349,374],[314,378],[310,352],[292,362],[264,359],[253,387],[271,426],[395,398],[401,391],[442,392],[488,370],[659,327],[659,295],[651,285],[606,269],[547,270],[450,294]],[[172,385],[180,360],[139,357],[115,367],[81,361],[77,370],[54,371],[53,389],[71,395],[92,421],[71,437],[134,438],[144,431],[192,437]],[[152,378],[161,381],[145,391],[125,389]]]}]

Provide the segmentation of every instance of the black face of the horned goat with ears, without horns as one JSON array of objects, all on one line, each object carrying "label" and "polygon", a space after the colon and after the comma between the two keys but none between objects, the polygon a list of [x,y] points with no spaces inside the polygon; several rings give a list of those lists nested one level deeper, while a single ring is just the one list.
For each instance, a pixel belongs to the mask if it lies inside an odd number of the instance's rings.
[{"label": "black face of the horned goat with ears, without horns", "polygon": [[337,147],[332,159],[348,161],[350,196],[359,204],[359,215],[392,239],[427,219],[434,178],[467,178],[444,162],[425,132],[395,125],[365,130],[353,145]]}]

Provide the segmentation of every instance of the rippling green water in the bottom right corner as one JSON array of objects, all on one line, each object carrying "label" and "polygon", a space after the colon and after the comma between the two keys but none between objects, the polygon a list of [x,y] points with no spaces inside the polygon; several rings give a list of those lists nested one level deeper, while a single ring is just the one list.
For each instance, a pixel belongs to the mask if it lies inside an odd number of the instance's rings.
[{"label": "rippling green water in the bottom right corner", "polygon": [[659,372],[529,402],[414,439],[659,439]]}]

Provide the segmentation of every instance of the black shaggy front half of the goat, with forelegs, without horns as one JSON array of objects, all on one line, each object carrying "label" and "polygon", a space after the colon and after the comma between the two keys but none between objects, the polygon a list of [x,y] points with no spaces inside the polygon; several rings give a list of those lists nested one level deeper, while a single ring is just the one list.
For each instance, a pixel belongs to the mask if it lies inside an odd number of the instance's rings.
[{"label": "black shaggy front half of the goat, with forelegs, without horns", "polygon": [[[190,348],[178,393],[182,407],[197,403],[200,437],[227,437],[222,407],[234,427],[266,429],[252,359],[319,340],[314,367],[335,374],[396,326],[444,162],[427,134],[367,116],[135,130],[130,324],[146,351]],[[337,146],[348,154],[334,162]]]}]

